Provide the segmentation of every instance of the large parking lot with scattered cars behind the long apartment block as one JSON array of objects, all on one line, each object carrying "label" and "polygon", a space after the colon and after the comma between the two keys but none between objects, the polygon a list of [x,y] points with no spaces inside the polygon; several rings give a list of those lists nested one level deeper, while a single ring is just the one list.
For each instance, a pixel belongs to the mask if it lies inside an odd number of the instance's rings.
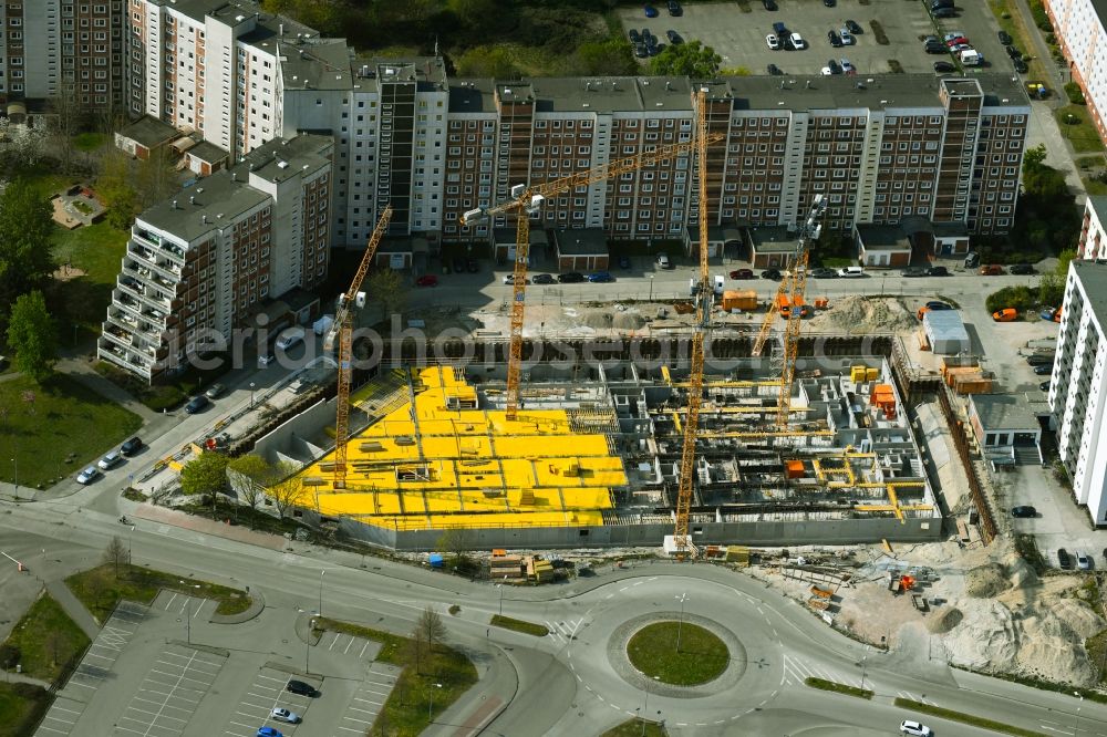
[{"label": "large parking lot with scattered cars behind the long apartment block", "polygon": [[[777,0],[778,10],[765,10],[761,0],[749,0],[751,12],[737,3],[685,4],[679,18],[670,17],[664,3],[656,7],[658,18],[645,18],[642,7],[620,10],[624,29],[649,29],[662,42],[665,32],[675,30],[685,41],[699,40],[723,58],[724,69],[745,68],[753,74],[766,74],[776,64],[785,74],[819,74],[830,59],[848,59],[858,74],[891,72],[889,61],[899,62],[903,72],[933,73],[935,61],[950,61],[945,54],[928,54],[921,39],[964,31],[973,46],[984,54],[983,70],[1013,71],[1012,62],[996,39],[999,25],[984,2],[958,3],[958,18],[935,21],[925,0],[872,0],[862,6],[857,0],[839,0],[827,8],[821,0]],[[856,44],[834,48],[827,39],[831,29],[840,30],[846,20],[859,23],[863,32]],[[872,21],[882,25],[888,44],[877,43]],[[774,23],[784,23],[807,42],[801,51],[772,51],[765,37]],[[1025,51],[1025,50],[1024,50]],[[643,65],[649,60],[640,60]],[[970,70],[971,71],[971,70]]]}]

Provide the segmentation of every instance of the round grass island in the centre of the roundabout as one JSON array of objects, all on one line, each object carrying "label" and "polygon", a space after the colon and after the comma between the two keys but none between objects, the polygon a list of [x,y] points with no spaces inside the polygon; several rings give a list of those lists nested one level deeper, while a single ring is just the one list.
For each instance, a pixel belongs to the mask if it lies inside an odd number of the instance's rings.
[{"label": "round grass island in the centre of the roundabout", "polygon": [[676,634],[676,622],[655,622],[635,632],[627,643],[631,665],[651,678],[679,686],[707,683],[726,669],[731,654],[714,634],[685,622],[680,626],[680,652]]}]

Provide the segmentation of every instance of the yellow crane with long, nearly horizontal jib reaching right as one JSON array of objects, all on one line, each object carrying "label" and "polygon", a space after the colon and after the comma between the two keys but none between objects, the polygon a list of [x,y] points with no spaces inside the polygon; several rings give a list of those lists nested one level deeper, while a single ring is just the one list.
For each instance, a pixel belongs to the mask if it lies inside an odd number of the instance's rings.
[{"label": "yellow crane with long, nearly horizontal jib reaching right", "polygon": [[[715,134],[711,141],[722,141],[722,134]],[[492,207],[480,207],[465,212],[461,222],[463,226],[488,222],[493,218],[514,212],[515,229],[515,272],[513,277],[514,292],[511,294],[511,336],[510,354],[507,362],[507,418],[516,419],[519,411],[519,374],[523,363],[523,322],[526,314],[527,260],[530,252],[530,218],[541,209],[541,204],[554,195],[560,195],[575,189],[581,189],[597,181],[603,181],[628,172],[637,172],[644,166],[656,164],[683,154],[691,153],[700,142],[658,146],[634,156],[620,158],[601,166],[579,172],[554,181],[536,185],[515,185],[511,187],[511,198]],[[706,283],[706,282],[704,282]]]}]

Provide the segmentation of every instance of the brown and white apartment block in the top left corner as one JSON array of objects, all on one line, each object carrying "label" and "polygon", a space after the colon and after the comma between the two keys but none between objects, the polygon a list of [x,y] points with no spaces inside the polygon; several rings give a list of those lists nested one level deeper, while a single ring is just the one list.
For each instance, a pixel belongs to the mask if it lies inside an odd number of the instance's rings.
[{"label": "brown and white apartment block in the top left corner", "polygon": [[0,2],[0,95],[65,96],[112,113],[123,94],[124,0]]}]

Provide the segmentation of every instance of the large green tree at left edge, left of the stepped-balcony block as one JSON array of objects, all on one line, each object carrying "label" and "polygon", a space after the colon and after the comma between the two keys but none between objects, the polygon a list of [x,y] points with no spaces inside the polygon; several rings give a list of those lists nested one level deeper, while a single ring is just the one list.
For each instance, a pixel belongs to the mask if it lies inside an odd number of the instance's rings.
[{"label": "large green tree at left edge, left of the stepped-balcony block", "polygon": [[50,203],[23,179],[0,197],[0,320],[20,294],[46,286],[54,272]]}]

